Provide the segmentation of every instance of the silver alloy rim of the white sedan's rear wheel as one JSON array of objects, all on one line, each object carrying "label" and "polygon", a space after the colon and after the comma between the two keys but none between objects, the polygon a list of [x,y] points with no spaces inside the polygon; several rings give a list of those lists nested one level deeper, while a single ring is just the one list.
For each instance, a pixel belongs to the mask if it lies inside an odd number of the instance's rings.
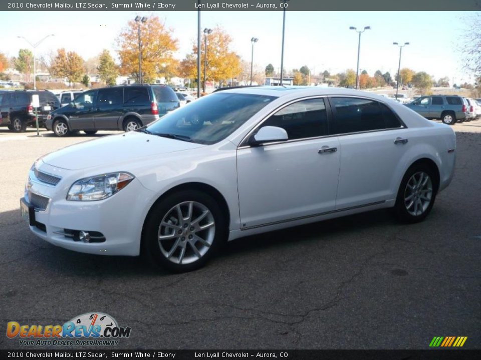
[{"label": "silver alloy rim of the white sedan's rear wheel", "polygon": [[415,172],[407,181],[404,190],[404,206],[413,216],[426,211],[432,199],[432,180],[424,171]]}]

